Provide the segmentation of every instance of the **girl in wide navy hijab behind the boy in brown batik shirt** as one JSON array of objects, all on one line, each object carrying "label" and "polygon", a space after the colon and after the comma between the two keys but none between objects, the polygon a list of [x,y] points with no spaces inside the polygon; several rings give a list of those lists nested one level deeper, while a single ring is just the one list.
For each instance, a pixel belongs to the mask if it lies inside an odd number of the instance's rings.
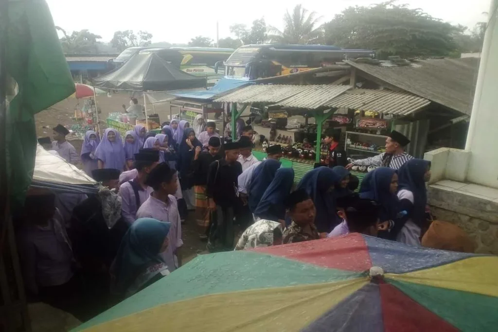
[{"label": "girl in wide navy hijab behind the boy in brown batik shirt", "polygon": [[315,225],[319,232],[330,232],[341,219],[337,215],[334,186],[340,181],[331,168],[318,167],[306,173],[297,185],[297,189],[305,189],[315,204]]}]

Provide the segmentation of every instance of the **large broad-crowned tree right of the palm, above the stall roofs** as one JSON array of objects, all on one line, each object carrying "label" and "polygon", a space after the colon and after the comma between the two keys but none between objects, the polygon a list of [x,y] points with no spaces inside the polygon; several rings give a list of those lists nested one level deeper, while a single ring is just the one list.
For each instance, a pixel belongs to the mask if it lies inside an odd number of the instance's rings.
[{"label": "large broad-crowned tree right of the palm, above the stall roofs", "polygon": [[457,49],[458,27],[393,1],[356,6],[325,25],[325,41],[343,48],[373,49],[379,58],[447,56]]}]

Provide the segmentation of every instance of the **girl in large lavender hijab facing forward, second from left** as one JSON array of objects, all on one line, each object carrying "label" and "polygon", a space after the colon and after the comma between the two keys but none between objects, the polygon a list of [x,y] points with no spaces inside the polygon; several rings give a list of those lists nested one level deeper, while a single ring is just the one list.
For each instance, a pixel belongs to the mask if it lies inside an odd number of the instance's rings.
[{"label": "girl in large lavender hijab facing forward, second from left", "polygon": [[99,146],[95,150],[99,160],[99,168],[115,168],[120,171],[124,168],[126,158],[124,155],[123,141],[120,133],[113,128],[107,128]]}]

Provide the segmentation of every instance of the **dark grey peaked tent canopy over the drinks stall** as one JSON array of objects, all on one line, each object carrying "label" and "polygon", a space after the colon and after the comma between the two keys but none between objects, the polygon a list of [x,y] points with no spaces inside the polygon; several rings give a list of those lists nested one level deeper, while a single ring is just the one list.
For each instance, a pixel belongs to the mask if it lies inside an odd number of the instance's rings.
[{"label": "dark grey peaked tent canopy over the drinks stall", "polygon": [[99,88],[167,91],[206,87],[206,78],[187,74],[155,53],[135,54],[123,67],[93,80]]}]

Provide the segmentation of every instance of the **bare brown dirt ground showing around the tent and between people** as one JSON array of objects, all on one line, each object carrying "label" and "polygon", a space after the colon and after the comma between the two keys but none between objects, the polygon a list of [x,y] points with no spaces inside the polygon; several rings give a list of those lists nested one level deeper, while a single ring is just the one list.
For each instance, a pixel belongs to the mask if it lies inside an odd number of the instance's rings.
[{"label": "bare brown dirt ground showing around the tent and between people", "polygon": [[[117,112],[122,110],[122,105],[129,105],[129,94],[113,94],[112,98],[106,95],[97,96],[97,107],[101,110],[99,114],[99,119],[101,119],[101,130],[105,129],[105,119],[107,114],[110,112]],[[135,96],[140,104],[143,104],[143,98],[141,96]],[[83,102],[80,102],[80,106]],[[74,115],[74,109],[78,107],[78,100],[76,99],[66,99],[60,103],[55,104],[51,108],[41,111],[35,115],[36,120],[36,134],[38,137],[50,136],[52,137],[52,129],[58,123],[71,128],[75,124],[75,120],[71,118]],[[147,105],[147,110],[153,112],[152,107]],[[169,115],[169,105],[167,103],[159,104],[155,107],[155,112],[159,114],[161,121],[167,121]],[[44,128],[48,126],[50,128]],[[79,153],[81,151],[82,140],[72,140],[71,144],[74,145],[76,151]],[[194,213],[189,212],[189,216],[182,225],[183,242],[184,246],[182,249],[183,263],[190,261],[195,258],[199,253],[206,253],[206,242],[199,240],[197,235],[197,230],[195,227]]]}]

